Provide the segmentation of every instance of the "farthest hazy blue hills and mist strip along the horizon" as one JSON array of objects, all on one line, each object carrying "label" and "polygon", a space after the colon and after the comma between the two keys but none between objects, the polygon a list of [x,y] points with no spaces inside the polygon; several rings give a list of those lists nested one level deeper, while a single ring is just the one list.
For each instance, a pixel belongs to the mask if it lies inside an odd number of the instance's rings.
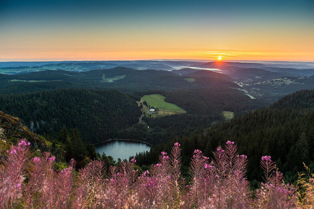
[{"label": "farthest hazy blue hills and mist strip along the horizon", "polygon": [[243,68],[260,68],[272,72],[285,72],[304,76],[314,75],[313,62],[228,62],[204,60],[133,60],[133,61],[48,61],[48,62],[0,62],[0,73],[21,74],[43,70],[89,71],[129,67],[136,70],[179,70],[182,68],[216,69],[234,71]]}]

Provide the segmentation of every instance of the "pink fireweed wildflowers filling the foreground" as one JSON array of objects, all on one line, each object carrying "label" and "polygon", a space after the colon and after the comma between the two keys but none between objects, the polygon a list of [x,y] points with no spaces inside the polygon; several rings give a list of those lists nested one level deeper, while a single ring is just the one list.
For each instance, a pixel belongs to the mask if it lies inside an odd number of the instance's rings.
[{"label": "pink fireweed wildflowers filling the foreground", "polygon": [[[187,181],[181,178],[181,148],[162,152],[159,163],[139,173],[136,160],[119,166],[92,161],[75,172],[75,161],[63,170],[55,157],[30,157],[30,143],[21,140],[7,150],[0,165],[3,208],[311,208],[313,175],[300,178],[303,192],[285,184],[270,156],[263,156],[264,182],[255,192],[246,180],[247,157],[234,142],[218,147],[214,159],[195,150]],[[299,195],[299,196],[298,196]]]}]

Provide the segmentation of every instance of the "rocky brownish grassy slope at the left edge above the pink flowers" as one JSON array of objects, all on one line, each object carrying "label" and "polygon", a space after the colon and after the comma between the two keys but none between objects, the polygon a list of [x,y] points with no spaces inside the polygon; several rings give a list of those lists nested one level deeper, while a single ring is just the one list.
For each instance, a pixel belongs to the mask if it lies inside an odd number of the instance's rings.
[{"label": "rocky brownish grassy slope at the left edge above the pink flowers", "polygon": [[26,138],[31,144],[34,144],[35,142],[37,142],[37,144],[45,144],[45,142],[40,140],[36,134],[32,133],[30,129],[25,127],[19,118],[4,114],[4,112],[0,111],[0,139],[8,141],[8,137]]}]

